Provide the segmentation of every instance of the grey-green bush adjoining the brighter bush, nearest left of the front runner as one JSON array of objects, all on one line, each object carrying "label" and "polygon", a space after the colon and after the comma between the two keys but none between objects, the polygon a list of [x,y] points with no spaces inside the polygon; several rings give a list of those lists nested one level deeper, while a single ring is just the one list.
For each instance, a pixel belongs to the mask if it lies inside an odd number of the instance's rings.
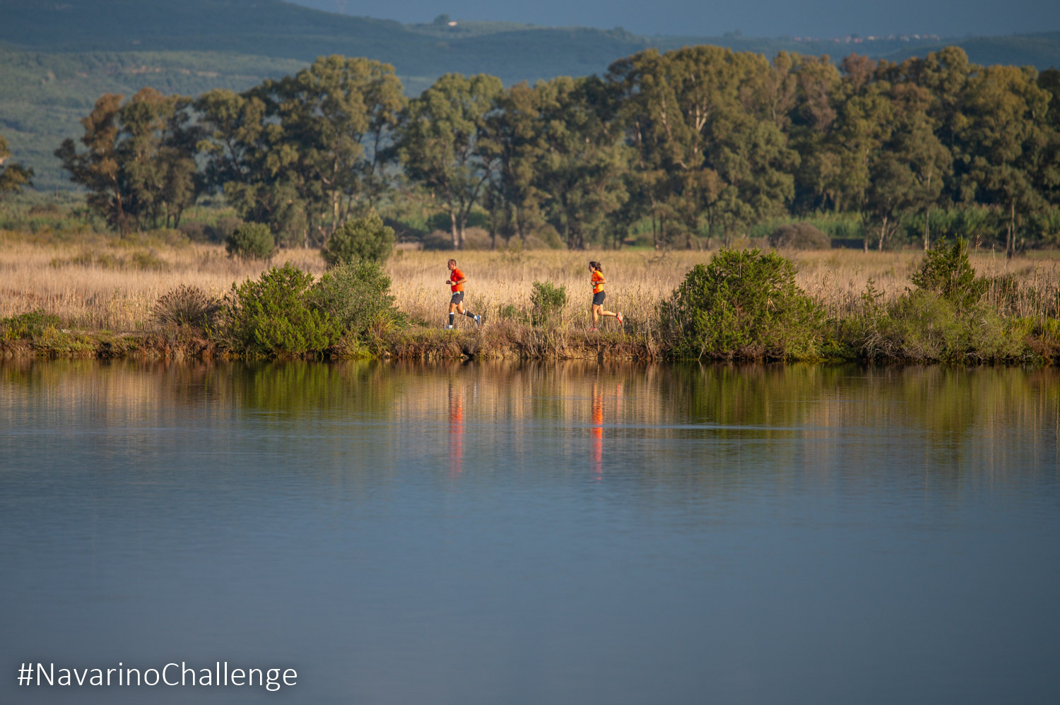
[{"label": "grey-green bush adjoining the brighter bush, nearest left of the front runner", "polygon": [[404,320],[390,294],[390,278],[370,260],[329,269],[313,286],[311,300],[354,335],[382,334]]}]

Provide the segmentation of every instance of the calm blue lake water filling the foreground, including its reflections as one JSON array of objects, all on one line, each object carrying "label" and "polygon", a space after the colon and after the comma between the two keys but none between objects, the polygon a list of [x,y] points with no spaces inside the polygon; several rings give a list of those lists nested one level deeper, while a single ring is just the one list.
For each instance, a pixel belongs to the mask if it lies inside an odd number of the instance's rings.
[{"label": "calm blue lake water filling the foreground, including its reflections", "polygon": [[7,363],[0,419],[3,703],[1060,702],[1054,370]]}]

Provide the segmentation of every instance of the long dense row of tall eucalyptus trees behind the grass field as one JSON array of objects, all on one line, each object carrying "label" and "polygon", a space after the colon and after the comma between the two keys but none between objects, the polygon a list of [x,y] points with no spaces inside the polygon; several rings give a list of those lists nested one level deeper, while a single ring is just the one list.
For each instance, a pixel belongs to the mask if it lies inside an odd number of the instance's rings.
[{"label": "long dense row of tall eucalyptus trees behind the grass field", "polygon": [[[496,240],[547,233],[658,247],[728,244],[756,224],[859,214],[865,247],[898,233],[1060,237],[1060,72],[982,67],[957,48],[901,64],[693,47],[603,77],[505,89],[446,74],[407,100],[389,65],[321,57],[294,76],[197,99],[107,94],[56,155],[111,225],[176,227],[206,193],[278,242],[323,246],[403,198],[475,212]],[[944,217],[939,217],[944,214]],[[547,237],[546,237],[547,239]]]}]

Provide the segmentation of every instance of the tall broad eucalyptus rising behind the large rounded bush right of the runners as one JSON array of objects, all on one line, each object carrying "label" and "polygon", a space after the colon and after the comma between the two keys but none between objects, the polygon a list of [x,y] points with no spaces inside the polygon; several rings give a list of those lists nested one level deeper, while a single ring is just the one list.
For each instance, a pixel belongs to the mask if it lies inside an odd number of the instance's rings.
[{"label": "tall broad eucalyptus rising behind the large rounded bush right of the runners", "polygon": [[718,47],[648,51],[612,65],[640,186],[660,219],[678,221],[687,244],[701,221],[727,243],[794,196],[799,157],[782,129],[794,100],[785,70]]}]

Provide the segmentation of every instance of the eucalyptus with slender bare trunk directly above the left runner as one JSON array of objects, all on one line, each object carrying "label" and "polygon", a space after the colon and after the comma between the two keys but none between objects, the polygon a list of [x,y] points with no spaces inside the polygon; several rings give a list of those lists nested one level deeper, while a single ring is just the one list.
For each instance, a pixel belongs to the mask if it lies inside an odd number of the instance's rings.
[{"label": "eucalyptus with slender bare trunk directly above the left runner", "polygon": [[467,216],[496,160],[488,118],[502,92],[496,76],[446,73],[409,102],[394,130],[405,175],[422,183],[448,213],[458,249],[463,249]]}]

